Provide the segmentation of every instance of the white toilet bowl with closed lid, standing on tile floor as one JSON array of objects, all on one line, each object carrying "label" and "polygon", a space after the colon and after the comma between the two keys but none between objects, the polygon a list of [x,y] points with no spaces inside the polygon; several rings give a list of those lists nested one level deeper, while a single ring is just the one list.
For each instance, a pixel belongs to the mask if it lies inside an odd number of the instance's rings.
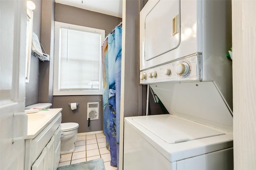
[{"label": "white toilet bowl with closed lid, standing on tile floor", "polygon": [[78,123],[61,123],[60,154],[75,151]]}]

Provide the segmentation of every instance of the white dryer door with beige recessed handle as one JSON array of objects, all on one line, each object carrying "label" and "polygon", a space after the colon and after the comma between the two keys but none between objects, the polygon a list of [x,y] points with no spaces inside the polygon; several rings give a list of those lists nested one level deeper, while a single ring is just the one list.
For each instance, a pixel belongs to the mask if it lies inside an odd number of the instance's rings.
[{"label": "white dryer door with beige recessed handle", "polygon": [[160,0],[148,10],[145,22],[145,60],[148,61],[180,44],[180,0]]}]

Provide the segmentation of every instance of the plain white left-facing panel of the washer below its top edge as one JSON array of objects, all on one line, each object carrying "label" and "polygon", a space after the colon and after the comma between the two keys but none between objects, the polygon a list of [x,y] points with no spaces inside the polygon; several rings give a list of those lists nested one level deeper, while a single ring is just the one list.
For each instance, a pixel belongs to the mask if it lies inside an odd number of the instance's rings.
[{"label": "plain white left-facing panel of the washer below its top edge", "polygon": [[170,163],[127,123],[124,134],[124,170],[176,170],[176,162]]}]

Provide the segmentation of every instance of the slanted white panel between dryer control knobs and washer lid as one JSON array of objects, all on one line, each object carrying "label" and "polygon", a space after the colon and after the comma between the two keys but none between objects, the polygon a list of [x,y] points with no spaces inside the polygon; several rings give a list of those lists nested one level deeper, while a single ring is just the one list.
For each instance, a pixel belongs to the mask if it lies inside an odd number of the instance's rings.
[{"label": "slanted white panel between dryer control knobs and washer lid", "polygon": [[159,83],[150,87],[172,115],[233,131],[232,114],[214,82]]}]

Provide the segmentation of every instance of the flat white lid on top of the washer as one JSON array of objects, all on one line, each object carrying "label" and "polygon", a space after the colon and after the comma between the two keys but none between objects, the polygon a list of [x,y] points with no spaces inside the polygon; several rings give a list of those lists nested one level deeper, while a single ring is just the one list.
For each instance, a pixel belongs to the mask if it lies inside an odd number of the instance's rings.
[{"label": "flat white lid on top of the washer", "polygon": [[206,127],[200,123],[170,116],[169,114],[159,117],[143,116],[133,118],[133,120],[169,144],[225,135],[221,131]]}]

